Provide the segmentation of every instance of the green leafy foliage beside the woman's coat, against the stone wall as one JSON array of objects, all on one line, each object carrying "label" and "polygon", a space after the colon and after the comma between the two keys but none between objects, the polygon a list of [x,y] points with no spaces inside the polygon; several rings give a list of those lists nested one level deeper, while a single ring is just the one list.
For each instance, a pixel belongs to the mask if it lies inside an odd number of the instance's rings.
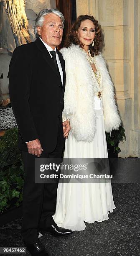
[{"label": "green leafy foliage beside the woman's coat, against the stone wall", "polygon": [[125,129],[120,125],[119,130],[113,130],[110,133],[106,133],[106,138],[107,138],[107,148],[109,149],[110,146],[114,147],[114,152],[116,155],[121,151],[120,148],[118,147],[118,143],[124,142],[124,139],[126,141],[126,136],[125,136]]}]

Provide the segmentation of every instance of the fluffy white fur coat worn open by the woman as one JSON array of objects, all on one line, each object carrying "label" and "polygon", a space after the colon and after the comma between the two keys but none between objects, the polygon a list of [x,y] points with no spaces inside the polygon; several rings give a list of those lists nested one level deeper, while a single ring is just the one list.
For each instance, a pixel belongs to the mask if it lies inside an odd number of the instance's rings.
[{"label": "fluffy white fur coat worn open by the woman", "polygon": [[[92,69],[78,45],[61,49],[61,54],[66,67],[63,117],[69,118],[71,132],[77,141],[93,141],[97,129],[94,110],[94,92],[97,88]],[[94,59],[102,76],[105,131],[111,132],[112,129],[117,130],[121,123],[115,105],[114,87],[102,54],[94,56]]]}]

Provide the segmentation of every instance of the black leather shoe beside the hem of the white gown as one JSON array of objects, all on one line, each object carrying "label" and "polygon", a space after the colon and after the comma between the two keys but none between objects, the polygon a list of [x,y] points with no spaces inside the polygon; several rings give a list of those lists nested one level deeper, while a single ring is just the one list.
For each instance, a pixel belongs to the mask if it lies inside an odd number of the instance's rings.
[{"label": "black leather shoe beside the hem of the white gown", "polygon": [[54,223],[53,225],[51,225],[51,227],[48,228],[40,228],[39,232],[45,232],[55,237],[70,236],[73,233],[70,229],[58,227],[56,223]]}]

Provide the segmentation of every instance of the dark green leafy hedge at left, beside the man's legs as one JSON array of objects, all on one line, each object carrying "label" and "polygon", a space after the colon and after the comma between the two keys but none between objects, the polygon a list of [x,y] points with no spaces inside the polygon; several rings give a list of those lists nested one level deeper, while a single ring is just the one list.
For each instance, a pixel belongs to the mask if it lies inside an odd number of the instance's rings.
[{"label": "dark green leafy hedge at left, beside the man's legs", "polygon": [[23,198],[24,170],[18,149],[18,129],[5,131],[0,139],[0,212],[17,207]]}]

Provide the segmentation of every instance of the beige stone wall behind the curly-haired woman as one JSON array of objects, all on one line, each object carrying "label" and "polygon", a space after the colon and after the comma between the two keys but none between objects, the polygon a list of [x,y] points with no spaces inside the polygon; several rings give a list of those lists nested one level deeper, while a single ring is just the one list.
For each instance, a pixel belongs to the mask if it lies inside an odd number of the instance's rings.
[{"label": "beige stone wall behind the curly-haired woman", "polygon": [[76,8],[77,17],[93,15],[103,29],[103,55],[127,137],[119,156],[140,157],[140,1],[76,0]]}]

